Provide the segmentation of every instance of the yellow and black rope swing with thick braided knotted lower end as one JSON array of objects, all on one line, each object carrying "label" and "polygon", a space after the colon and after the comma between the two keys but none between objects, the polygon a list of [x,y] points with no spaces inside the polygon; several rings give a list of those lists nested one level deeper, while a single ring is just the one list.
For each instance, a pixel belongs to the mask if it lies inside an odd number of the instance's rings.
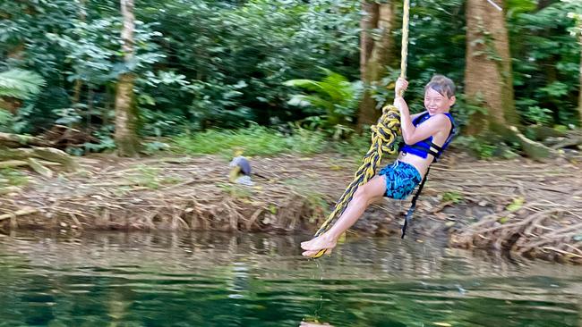
[{"label": "yellow and black rope swing with thick braided knotted lower end", "polygon": [[[405,78],[407,73],[407,55],[408,55],[408,17],[410,10],[410,1],[404,1],[404,13],[402,17],[402,52],[400,54],[400,77]],[[402,96],[402,95],[399,95]],[[372,126],[372,144],[368,152],[362,159],[362,165],[354,174],[354,180],[347,186],[338,203],[331,212],[328,219],[321,224],[320,229],[315,232],[315,237],[320,236],[328,231],[341,214],[346,210],[347,205],[354,197],[355,190],[376,174],[376,168],[381,164],[382,155],[388,153],[394,155],[398,150],[396,140],[400,134],[400,114],[398,108],[394,105],[385,105],[382,108],[382,115],[376,125]],[[320,257],[326,249],[321,249],[315,256]]]}]

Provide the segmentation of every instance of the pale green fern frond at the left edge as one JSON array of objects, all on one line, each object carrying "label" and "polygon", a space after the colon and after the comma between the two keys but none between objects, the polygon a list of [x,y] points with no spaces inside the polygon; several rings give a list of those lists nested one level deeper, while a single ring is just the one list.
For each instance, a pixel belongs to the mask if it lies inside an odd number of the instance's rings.
[{"label": "pale green fern frond at the left edge", "polygon": [[21,100],[39,94],[45,80],[33,71],[13,69],[0,72],[0,96],[11,96]]}]

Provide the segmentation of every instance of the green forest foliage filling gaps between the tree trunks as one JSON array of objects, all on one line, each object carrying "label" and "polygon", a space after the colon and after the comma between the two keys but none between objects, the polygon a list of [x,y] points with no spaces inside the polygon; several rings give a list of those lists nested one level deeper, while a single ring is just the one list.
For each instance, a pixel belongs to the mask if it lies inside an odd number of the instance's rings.
[{"label": "green forest foliage filling gaps between the tree trunks", "polygon": [[[369,87],[379,106],[392,101],[399,73],[402,4],[395,5],[394,59],[386,76]],[[37,76],[36,83],[19,80],[19,88],[2,93],[0,80],[0,96],[24,100],[13,117],[0,116],[0,130],[36,133],[54,123],[97,128],[102,142],[86,150],[114,147],[116,78],[132,71],[141,136],[241,129],[249,122],[284,130],[291,122],[293,137],[313,140],[300,151],[314,152],[324,147],[320,138],[353,132],[362,89],[348,81],[359,80],[360,6],[355,0],[143,0],[134,10],[135,55],[124,63],[118,2],[4,1],[0,70],[36,71],[46,87],[40,88]],[[424,110],[424,85],[441,73],[458,85],[453,113],[461,126],[484,107],[478,98],[462,96],[465,6],[460,0],[413,3],[407,66],[411,111]],[[578,120],[581,6],[576,0],[506,4],[516,105],[526,124],[569,126]],[[487,55],[495,60],[491,35],[483,31],[477,42],[489,45]],[[289,80],[309,93],[294,96]],[[472,148],[482,156],[494,152]]]}]

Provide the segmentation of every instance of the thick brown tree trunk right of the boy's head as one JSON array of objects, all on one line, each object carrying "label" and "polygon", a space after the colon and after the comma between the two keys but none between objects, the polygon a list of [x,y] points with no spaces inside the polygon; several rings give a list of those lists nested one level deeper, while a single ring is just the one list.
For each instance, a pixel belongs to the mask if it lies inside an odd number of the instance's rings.
[{"label": "thick brown tree trunk right of the boy's head", "polygon": [[[497,3],[502,6],[503,1]],[[505,16],[482,0],[466,3],[465,81],[467,99],[488,111],[470,117],[469,134],[498,132],[518,124]]]}]

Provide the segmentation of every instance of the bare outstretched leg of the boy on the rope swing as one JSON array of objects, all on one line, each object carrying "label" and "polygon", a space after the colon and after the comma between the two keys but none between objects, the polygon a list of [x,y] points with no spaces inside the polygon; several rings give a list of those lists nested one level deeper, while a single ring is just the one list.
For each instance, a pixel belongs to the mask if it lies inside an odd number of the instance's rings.
[{"label": "bare outstretched leg of the boy on the rope swing", "polygon": [[339,236],[364,214],[364,210],[375,200],[383,197],[386,193],[386,176],[375,176],[364,185],[360,186],[354,194],[354,197],[347,205],[346,210],[339,217],[338,221],[331,226],[329,231],[324,232],[315,239],[301,243],[305,250],[304,256],[312,256],[315,252],[323,248],[332,248],[336,246]]}]

